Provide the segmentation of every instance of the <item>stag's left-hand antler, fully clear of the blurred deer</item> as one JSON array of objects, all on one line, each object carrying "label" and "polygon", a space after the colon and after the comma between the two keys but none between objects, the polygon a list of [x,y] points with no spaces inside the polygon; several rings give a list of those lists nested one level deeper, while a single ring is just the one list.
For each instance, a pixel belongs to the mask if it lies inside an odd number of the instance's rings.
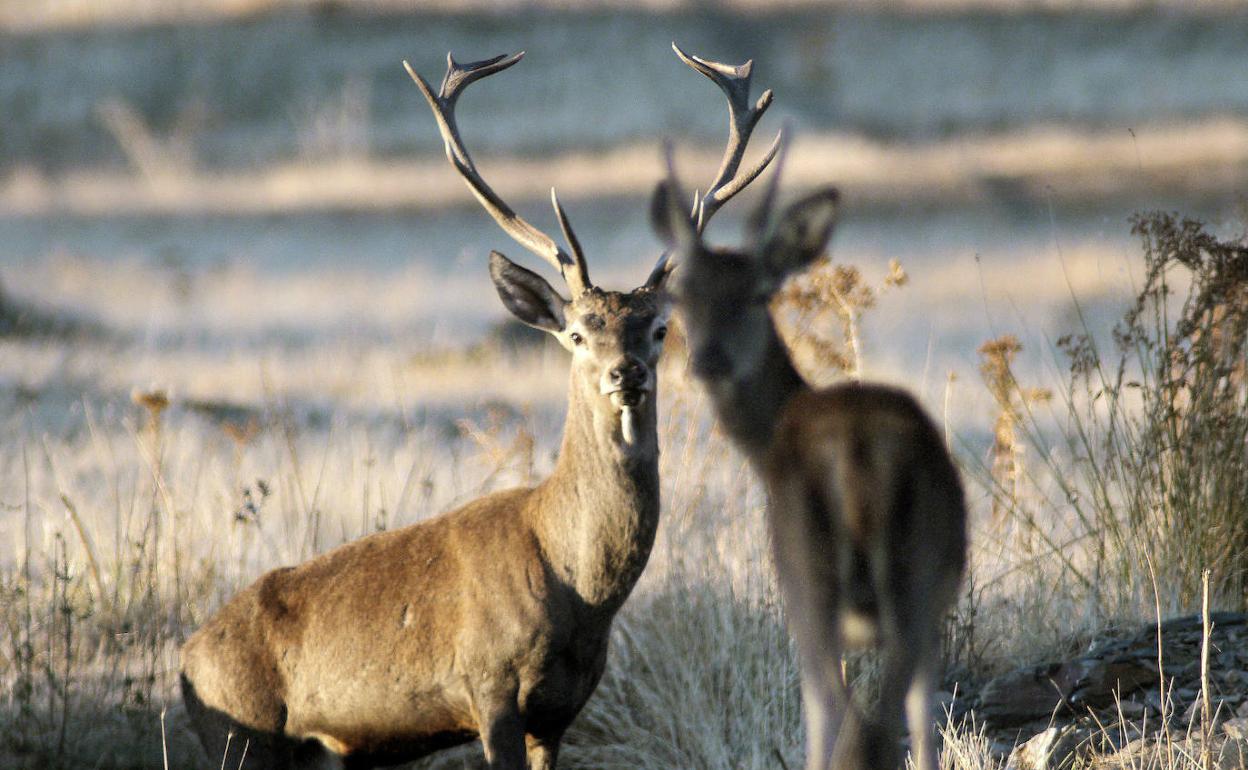
[{"label": "stag's left-hand antler, fully clear of the blurred deer", "polygon": [[577,236],[572,231],[572,225],[568,222],[568,217],[563,211],[563,206],[559,205],[559,198],[555,196],[554,190],[550,190],[550,203],[554,206],[555,217],[559,220],[559,228],[563,231],[564,238],[568,240],[568,246],[572,248],[570,255],[555,243],[554,238],[524,221],[485,183],[485,180],[477,172],[477,166],[473,165],[472,158],[468,156],[468,149],[464,147],[463,141],[459,139],[459,129],[456,126],[456,100],[459,99],[459,94],[469,84],[505,70],[519,61],[522,56],[524,56],[524,51],[510,56],[495,56],[485,61],[473,61],[461,65],[451,54],[447,54],[447,74],[442,79],[442,87],[437,94],[412,69],[412,65],[404,61],[403,67],[407,69],[407,74],[412,76],[412,80],[416,81],[421,92],[424,94],[424,99],[429,102],[433,117],[438,121],[442,142],[447,149],[447,160],[451,161],[451,165],[456,167],[459,176],[468,183],[468,188],[472,190],[472,193],[507,235],[515,238],[520,246],[542,257],[559,271],[559,275],[568,282],[568,288],[572,291],[573,298],[575,298],[593,285],[589,282],[589,268],[585,266],[585,255],[580,250],[580,242],[577,241]]}]

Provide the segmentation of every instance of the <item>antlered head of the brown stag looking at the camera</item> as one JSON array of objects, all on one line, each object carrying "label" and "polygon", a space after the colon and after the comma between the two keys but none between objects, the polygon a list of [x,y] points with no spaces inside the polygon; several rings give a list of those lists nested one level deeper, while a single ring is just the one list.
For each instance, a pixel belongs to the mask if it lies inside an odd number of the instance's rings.
[{"label": "antlered head of the brown stag looking at the camera", "polygon": [[[743,171],[745,147],[755,124],[771,104],[771,91],[764,92],[751,106],[751,62],[729,66],[690,56],[675,44],[671,47],[681,61],[713,80],[728,97],[729,141],[724,160],[706,195],[695,198],[693,211],[685,215],[689,226],[700,233],[710,217],[771,162],[781,137],[778,135],[768,152]],[[404,62],[404,66],[433,109],[447,158],[468,188],[508,235],[559,271],[570,295],[564,298],[533,271],[493,252],[490,277],[503,305],[524,323],[553,334],[572,352],[569,399],[590,407],[595,428],[608,431],[625,448],[649,447],[654,437],[653,431],[645,428],[654,424],[655,366],[666,334],[670,302],[665,285],[674,262],[664,253],[645,283],[630,292],[595,287],[589,280],[584,252],[554,191],[550,191],[550,202],[567,250],[520,218],[485,183],[459,137],[454,106],[463,89],[510,67],[523,55],[467,65],[448,55],[447,74],[437,92],[411,65]]]}]

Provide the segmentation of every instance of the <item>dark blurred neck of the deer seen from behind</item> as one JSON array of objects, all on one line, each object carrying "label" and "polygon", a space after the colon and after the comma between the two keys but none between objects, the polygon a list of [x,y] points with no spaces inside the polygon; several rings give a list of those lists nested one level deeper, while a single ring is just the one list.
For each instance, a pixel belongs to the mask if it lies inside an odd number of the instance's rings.
[{"label": "dark blurred neck of the deer seen from behind", "polygon": [[764,352],[755,366],[711,384],[720,424],[755,465],[763,461],[776,423],[789,401],[809,391],[774,324],[768,326]]}]

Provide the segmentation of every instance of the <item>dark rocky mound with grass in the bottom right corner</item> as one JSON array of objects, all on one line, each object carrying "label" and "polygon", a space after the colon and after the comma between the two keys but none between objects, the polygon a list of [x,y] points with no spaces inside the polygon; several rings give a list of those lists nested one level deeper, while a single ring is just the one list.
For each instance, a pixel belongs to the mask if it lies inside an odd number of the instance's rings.
[{"label": "dark rocky mound with grass in the bottom right corner", "polygon": [[1248,768],[1248,614],[1209,620],[1203,675],[1202,618],[1174,618],[990,679],[953,716],[973,720],[1013,770]]}]

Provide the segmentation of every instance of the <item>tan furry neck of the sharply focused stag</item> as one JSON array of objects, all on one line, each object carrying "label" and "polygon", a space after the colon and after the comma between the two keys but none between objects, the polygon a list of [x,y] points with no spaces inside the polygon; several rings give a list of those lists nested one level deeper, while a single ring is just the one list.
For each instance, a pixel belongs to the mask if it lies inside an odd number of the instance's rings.
[{"label": "tan furry neck of the sharply focused stag", "polygon": [[535,493],[550,568],[608,616],[641,575],[659,524],[656,401],[635,409],[625,443],[620,416],[573,373],[559,459]]}]

